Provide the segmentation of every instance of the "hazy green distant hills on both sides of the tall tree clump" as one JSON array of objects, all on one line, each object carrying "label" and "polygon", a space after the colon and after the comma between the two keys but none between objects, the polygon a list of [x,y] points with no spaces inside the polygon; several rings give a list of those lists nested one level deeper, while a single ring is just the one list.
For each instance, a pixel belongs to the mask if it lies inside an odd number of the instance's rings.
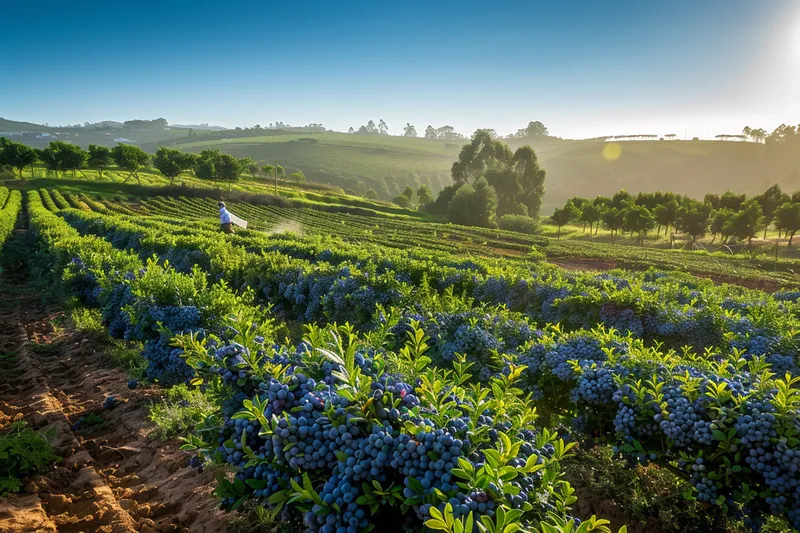
[{"label": "hazy green distant hills on both sides of the tall tree clump", "polygon": [[[190,132],[182,126],[119,128],[107,121],[88,128],[53,128],[0,119],[0,131],[58,135],[86,147],[113,146],[114,138],[135,140],[155,152],[159,145],[190,152],[218,148],[261,164],[278,163],[310,180],[362,194],[375,189],[391,199],[407,185],[424,183],[434,192],[451,183],[450,167],[465,141],[318,131],[224,130]],[[104,127],[114,126],[112,130]],[[49,142],[37,133],[18,136],[36,147]],[[571,197],[668,190],[702,198],[726,190],[761,192],[773,183],[800,189],[800,150],[788,145],[731,141],[622,141],[616,158],[604,157],[607,143],[556,137],[509,139],[512,149],[530,144],[547,170],[545,214]],[[796,152],[796,153],[795,153]],[[608,155],[608,152],[606,153]]]}]

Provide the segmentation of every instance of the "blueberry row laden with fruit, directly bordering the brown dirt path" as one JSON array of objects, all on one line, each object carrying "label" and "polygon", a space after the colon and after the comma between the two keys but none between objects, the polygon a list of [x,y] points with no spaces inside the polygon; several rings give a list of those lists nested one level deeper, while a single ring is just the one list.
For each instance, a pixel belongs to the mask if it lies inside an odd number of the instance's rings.
[{"label": "blueberry row laden with fruit, directly bordering the brown dirt path", "polygon": [[[98,237],[80,236],[41,198],[29,193],[41,267],[63,273],[70,290],[99,306],[112,335],[144,341],[151,377],[182,364],[188,378],[186,359],[198,371],[196,384],[204,380],[205,386],[231,389],[219,436],[209,439],[208,428],[201,427],[192,439],[199,450],[239,467],[235,482],[221,482],[219,493],[229,507],[256,498],[280,510],[292,500],[305,511],[309,529],[336,531],[326,527],[336,525],[351,533],[389,518],[391,509],[402,516],[413,508],[405,519],[411,525],[433,519],[439,509],[449,521],[474,512],[476,519],[503,527],[565,519],[574,498],[559,462],[570,446],[534,425],[535,411],[513,387],[520,372],[495,378],[497,392],[488,394],[455,387],[441,371],[429,373],[429,390],[415,390],[402,352],[391,356],[396,372],[360,374],[365,352],[352,331],[313,327],[311,338],[326,344],[346,339],[345,344],[335,356],[320,359],[322,352],[313,351],[290,365],[287,348],[265,341],[276,336],[275,329],[246,293],[236,295],[224,283],[209,286],[196,269],[178,273]],[[172,346],[175,335],[185,351]],[[417,350],[422,355],[425,348],[418,344]],[[267,352],[270,357],[264,357]],[[378,363],[377,357],[371,361]],[[469,378],[467,370],[465,364],[461,378]],[[343,373],[351,380],[336,382]],[[453,409],[462,411],[458,419]],[[390,448],[402,466],[390,464]],[[475,479],[462,480],[459,469]]]}]

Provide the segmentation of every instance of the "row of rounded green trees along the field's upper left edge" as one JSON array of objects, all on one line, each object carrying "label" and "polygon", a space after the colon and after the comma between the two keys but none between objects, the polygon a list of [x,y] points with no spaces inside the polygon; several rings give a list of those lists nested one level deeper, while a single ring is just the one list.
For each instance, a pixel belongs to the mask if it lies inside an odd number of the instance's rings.
[{"label": "row of rounded green trees along the field's upper left edge", "polygon": [[[249,157],[237,159],[219,150],[203,150],[199,154],[181,152],[167,147],[160,147],[151,156],[138,146],[118,144],[113,148],[89,145],[88,150],[65,141],[53,141],[46,148],[36,149],[22,143],[0,138],[0,167],[12,168],[19,172],[30,168],[34,173],[36,165],[42,164],[48,171],[71,172],[75,177],[84,169],[97,171],[102,176],[106,170],[116,167],[128,172],[125,181],[131,178],[139,180],[139,171],[152,168],[174,181],[183,172],[192,172],[201,179],[214,181],[237,181],[245,172],[254,176],[283,176],[284,169],[280,165],[257,165]],[[305,181],[305,176],[295,172],[290,176],[296,181]]]}]

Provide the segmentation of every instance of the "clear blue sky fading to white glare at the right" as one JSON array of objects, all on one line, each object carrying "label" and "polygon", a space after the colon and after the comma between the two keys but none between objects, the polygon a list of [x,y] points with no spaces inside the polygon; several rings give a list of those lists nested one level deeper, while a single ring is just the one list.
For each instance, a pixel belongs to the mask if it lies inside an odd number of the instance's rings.
[{"label": "clear blue sky fading to white glare at the right", "polygon": [[0,117],[566,138],[800,123],[800,0],[4,2]]}]

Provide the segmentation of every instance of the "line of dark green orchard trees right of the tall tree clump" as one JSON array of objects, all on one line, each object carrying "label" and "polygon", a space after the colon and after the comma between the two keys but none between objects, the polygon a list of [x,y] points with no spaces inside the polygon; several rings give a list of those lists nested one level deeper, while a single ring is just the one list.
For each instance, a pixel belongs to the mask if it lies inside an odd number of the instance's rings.
[{"label": "line of dark green orchard trees right of the tall tree clump", "polygon": [[[594,199],[570,198],[564,207],[550,217],[561,228],[570,223],[583,224],[584,231],[597,233],[602,224],[611,231],[611,239],[620,232],[639,236],[644,243],[647,233],[656,230],[679,231],[692,238],[711,234],[712,242],[719,235],[724,244],[731,238],[751,243],[763,231],[767,236],[770,225],[779,237],[787,235],[789,246],[800,230],[800,191],[791,196],[773,185],[750,198],[746,194],[728,191],[722,195],[707,194],[703,201],[671,192],[639,193],[636,196],[622,190],[612,197]],[[669,233],[673,235],[673,233]]]}]

